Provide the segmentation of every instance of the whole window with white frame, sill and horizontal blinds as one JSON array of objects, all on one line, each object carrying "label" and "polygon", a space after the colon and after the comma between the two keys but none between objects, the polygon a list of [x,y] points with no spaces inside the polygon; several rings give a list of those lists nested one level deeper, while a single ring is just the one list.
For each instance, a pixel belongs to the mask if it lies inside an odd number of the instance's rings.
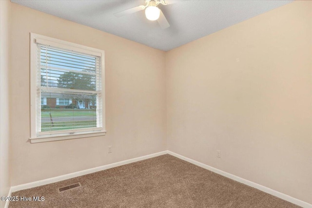
[{"label": "whole window with white frame, sill and horizontal blinds", "polygon": [[104,80],[104,51],[31,33],[31,142],[105,135]]}]

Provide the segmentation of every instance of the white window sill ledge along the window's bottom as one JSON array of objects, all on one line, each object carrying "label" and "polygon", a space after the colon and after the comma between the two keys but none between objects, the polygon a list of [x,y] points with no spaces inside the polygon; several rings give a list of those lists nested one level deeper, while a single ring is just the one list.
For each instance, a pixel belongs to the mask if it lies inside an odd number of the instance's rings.
[{"label": "white window sill ledge along the window's bottom", "polygon": [[29,138],[30,143],[39,143],[39,142],[51,142],[51,141],[59,141],[59,140],[67,140],[67,139],[79,139],[79,138],[86,138],[86,137],[94,137],[94,136],[104,136],[106,131],[103,132],[94,132],[94,133],[78,133],[73,135],[62,135],[62,136],[39,136],[35,138]]}]

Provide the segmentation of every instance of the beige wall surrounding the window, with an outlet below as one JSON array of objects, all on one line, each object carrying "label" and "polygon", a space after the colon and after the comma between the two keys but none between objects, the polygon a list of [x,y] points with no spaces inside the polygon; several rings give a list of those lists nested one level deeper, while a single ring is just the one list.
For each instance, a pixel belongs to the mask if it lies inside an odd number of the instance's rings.
[{"label": "beige wall surrounding the window, with an outlet below", "polygon": [[[165,52],[15,3],[11,8],[12,186],[166,150]],[[106,136],[29,143],[30,32],[105,51]]]}]

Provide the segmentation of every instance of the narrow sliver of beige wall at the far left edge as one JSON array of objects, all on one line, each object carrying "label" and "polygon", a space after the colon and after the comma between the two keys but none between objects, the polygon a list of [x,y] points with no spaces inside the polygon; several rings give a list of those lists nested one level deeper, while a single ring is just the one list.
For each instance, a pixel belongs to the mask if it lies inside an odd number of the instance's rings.
[{"label": "narrow sliver of beige wall at the far left edge", "polygon": [[[0,0],[0,196],[7,196],[10,184],[9,162],[9,67],[10,2]],[[5,205],[0,201],[0,208]]]}]

